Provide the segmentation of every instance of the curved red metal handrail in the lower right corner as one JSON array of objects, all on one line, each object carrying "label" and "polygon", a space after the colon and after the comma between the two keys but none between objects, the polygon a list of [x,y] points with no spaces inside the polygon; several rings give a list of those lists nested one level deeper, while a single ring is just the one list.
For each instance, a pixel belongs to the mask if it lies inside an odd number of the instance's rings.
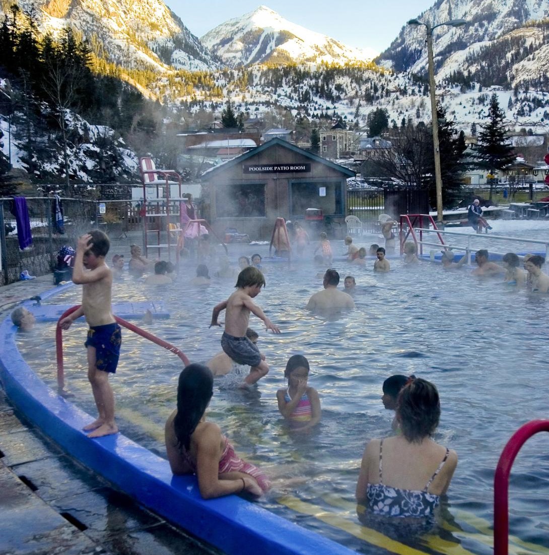
[{"label": "curved red metal handrail in the lower right corner", "polygon": [[549,420],[532,420],[511,436],[501,452],[494,476],[494,555],[509,554],[509,475],[515,457],[526,440],[549,432]]}]

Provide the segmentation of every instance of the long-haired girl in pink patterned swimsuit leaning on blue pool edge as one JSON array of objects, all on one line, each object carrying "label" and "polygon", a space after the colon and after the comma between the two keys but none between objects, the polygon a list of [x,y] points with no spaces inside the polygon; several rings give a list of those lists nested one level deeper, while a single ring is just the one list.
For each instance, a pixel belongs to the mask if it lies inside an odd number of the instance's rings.
[{"label": "long-haired girl in pink patterned swimsuit leaning on blue pool edge", "polygon": [[190,364],[179,376],[177,409],[166,421],[168,461],[175,475],[196,474],[204,499],[247,492],[260,496],[267,477],[239,458],[217,424],[206,421],[214,376],[207,366]]}]

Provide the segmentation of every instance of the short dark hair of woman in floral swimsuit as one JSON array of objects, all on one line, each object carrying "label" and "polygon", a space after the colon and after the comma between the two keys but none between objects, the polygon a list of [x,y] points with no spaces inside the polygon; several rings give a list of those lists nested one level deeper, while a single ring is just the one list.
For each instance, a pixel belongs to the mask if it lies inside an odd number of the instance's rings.
[{"label": "short dark hair of woman in floral swimsuit", "polygon": [[440,420],[440,400],[436,387],[421,378],[411,379],[399,393],[396,417],[406,440],[420,443],[432,436]]}]

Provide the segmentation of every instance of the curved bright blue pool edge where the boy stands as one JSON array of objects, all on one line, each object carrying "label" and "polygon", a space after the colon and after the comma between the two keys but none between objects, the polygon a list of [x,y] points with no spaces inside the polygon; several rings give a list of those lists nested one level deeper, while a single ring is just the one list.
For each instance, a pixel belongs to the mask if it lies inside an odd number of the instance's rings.
[{"label": "curved bright blue pool edge where the boy stands", "polygon": [[6,317],[0,324],[0,381],[9,401],[70,456],[144,507],[228,555],[355,553],[238,496],[205,501],[194,476],[173,476],[165,459],[121,433],[90,440],[82,427],[93,418],[34,374],[17,349],[16,333]]}]

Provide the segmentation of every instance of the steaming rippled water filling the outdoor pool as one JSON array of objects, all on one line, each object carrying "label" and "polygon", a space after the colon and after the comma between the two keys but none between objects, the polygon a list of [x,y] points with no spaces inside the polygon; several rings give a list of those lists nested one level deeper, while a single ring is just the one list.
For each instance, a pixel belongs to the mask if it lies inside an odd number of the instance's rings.
[{"label": "steaming rippled water filling the outdoor pool", "polygon": [[[549,417],[549,299],[438,264],[409,268],[391,260],[389,274],[374,274],[373,260],[364,267],[334,264],[342,283],[345,275],[355,276],[357,308],[329,318],[304,310],[309,296],[322,289],[318,268],[267,265],[267,286],[255,301],[282,333],[266,332],[253,315],[250,326],[260,334],[258,345],[271,371],[255,392],[227,389],[225,379],[216,379],[208,417],[240,455],[275,477],[273,492],[260,504],[357,551],[382,553],[383,547],[363,541],[356,514],[360,459],[370,438],[390,434],[394,413],[383,408],[383,381],[392,374],[430,380],[442,407],[435,440],[459,456],[442,534],[469,552],[491,553],[488,523],[501,450],[523,423]],[[187,279],[183,270],[170,288],[123,281],[113,301],[164,300],[171,318],[141,327],[179,347],[192,362],[205,362],[220,351],[222,329],[208,328],[211,309],[230,295],[234,283],[212,280],[210,287],[192,289]],[[74,287],[49,302],[79,299],[80,288]],[[21,341],[19,347],[54,386],[55,361],[43,360],[44,346],[53,346],[54,325],[38,329],[39,345]],[[78,321],[64,333],[65,381],[74,402],[95,416],[85,331],[85,322]],[[283,371],[292,354],[307,356],[309,384],[321,398],[322,422],[307,434],[289,431],[277,411],[276,391],[286,386]],[[119,427],[161,456],[180,370],[175,355],[123,331],[120,364],[111,379]],[[544,434],[531,438],[516,459],[510,486],[510,533],[541,552],[549,552],[542,547],[549,546],[547,452]],[[422,542],[411,544],[422,549]]]}]

